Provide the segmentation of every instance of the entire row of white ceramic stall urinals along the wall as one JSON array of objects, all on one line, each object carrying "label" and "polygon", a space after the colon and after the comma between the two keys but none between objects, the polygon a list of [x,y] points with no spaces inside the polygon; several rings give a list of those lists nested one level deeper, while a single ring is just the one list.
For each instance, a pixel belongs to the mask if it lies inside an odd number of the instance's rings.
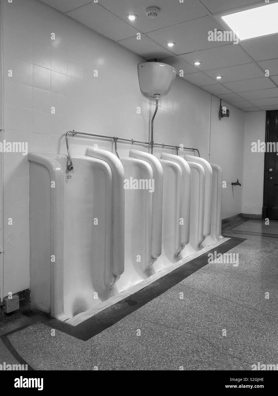
[{"label": "entire row of white ceramic stall urinals along the wall", "polygon": [[65,320],[221,236],[222,175],[202,158],[88,147],[30,153],[33,305]]}]

